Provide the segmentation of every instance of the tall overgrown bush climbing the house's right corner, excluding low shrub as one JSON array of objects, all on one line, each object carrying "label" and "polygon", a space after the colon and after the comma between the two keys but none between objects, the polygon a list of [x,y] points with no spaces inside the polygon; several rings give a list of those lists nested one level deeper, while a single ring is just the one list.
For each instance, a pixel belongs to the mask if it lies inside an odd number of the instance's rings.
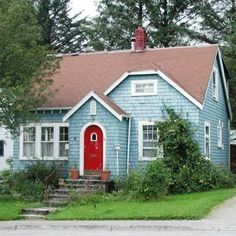
[{"label": "tall overgrown bush climbing the house's right corner, excluding low shrub", "polygon": [[171,170],[170,191],[190,193],[233,186],[232,174],[201,155],[191,123],[172,109],[167,113],[168,118],[156,125],[164,150],[163,162]]}]

